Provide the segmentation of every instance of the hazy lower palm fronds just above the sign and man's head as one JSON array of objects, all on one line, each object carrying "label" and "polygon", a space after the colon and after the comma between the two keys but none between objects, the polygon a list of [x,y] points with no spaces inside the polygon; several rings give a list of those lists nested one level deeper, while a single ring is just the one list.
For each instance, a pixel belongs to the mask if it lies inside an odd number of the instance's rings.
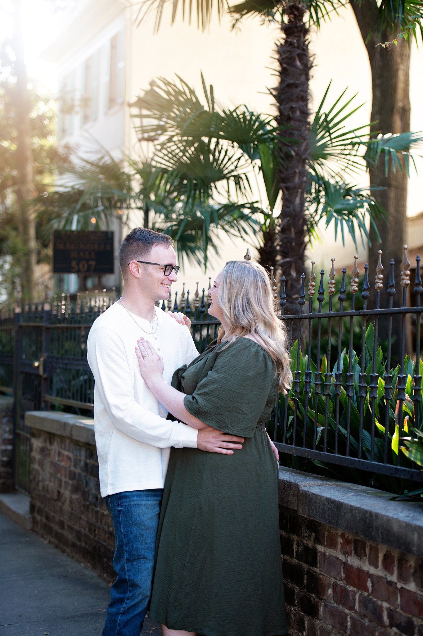
[{"label": "hazy lower palm fronds just above the sign and man's head", "polygon": [[[74,163],[61,165],[58,173],[55,187],[32,200],[44,239],[55,229],[109,230],[138,215],[140,225],[171,235],[182,263],[187,258],[206,268],[209,251],[218,252],[218,228],[243,237],[259,226],[253,203],[192,198],[175,187],[171,169],[129,156],[118,162],[100,146],[92,158],[76,157]],[[233,165],[224,166],[223,176],[236,177],[244,191],[243,174],[238,176]]]}]

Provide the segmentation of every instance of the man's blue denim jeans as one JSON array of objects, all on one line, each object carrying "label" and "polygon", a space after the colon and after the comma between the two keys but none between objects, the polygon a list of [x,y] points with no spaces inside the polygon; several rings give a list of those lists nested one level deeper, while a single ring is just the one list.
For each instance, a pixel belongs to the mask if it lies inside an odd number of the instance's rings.
[{"label": "man's blue denim jeans", "polygon": [[116,581],[102,636],[140,636],[151,595],[154,553],[163,490],[107,495],[112,513]]}]

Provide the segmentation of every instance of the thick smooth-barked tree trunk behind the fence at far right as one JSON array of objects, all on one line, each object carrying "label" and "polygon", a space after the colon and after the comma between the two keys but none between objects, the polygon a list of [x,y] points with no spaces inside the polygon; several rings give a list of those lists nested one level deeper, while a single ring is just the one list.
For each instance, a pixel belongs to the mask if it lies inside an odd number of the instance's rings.
[{"label": "thick smooth-barked tree trunk behind the fence at far right", "polygon": [[[361,31],[363,40],[366,41],[377,16],[377,4],[375,0],[364,0],[363,3],[352,2],[352,10]],[[379,33],[379,25],[375,25],[375,31],[366,43],[366,49],[372,70],[372,131],[382,134],[393,134],[410,130],[410,48],[404,39],[398,40],[398,46],[392,46],[389,50],[382,46],[376,46],[378,42],[392,41],[400,31],[396,27],[393,31]],[[403,245],[406,242],[406,203],[408,176],[406,170],[397,169],[394,174],[392,162],[389,172],[385,174],[384,157],[381,156],[376,167],[370,169],[370,183],[374,186],[382,186],[384,190],[375,191],[373,196],[377,198],[388,213],[387,223],[379,223],[381,243],[376,242],[374,232],[370,233],[372,247],[369,249],[369,274],[372,277],[376,273],[378,250],[384,254],[385,276],[389,272],[389,261],[395,261],[396,304],[402,303],[402,288],[400,287],[401,260],[403,258]],[[387,296],[382,294],[384,305],[387,306]],[[382,300],[382,298],[381,298]],[[395,302],[395,301],[394,301]]]}]

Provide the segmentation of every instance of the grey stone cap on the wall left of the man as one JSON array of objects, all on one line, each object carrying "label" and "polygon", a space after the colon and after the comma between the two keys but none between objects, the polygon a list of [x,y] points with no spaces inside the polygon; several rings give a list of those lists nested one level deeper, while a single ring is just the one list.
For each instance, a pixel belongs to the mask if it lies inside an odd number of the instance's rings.
[{"label": "grey stone cap on the wall left of the man", "polygon": [[68,437],[83,444],[95,445],[92,417],[60,413],[60,411],[27,411],[25,425],[38,431]]}]

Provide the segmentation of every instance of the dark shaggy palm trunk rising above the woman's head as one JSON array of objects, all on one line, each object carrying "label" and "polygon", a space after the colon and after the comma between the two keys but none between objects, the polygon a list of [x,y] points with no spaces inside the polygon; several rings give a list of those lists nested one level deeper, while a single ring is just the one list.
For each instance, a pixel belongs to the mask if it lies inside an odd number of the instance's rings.
[{"label": "dark shaggy palm trunk rising above the woman's head", "polygon": [[[282,25],[283,40],[277,46],[279,85],[275,90],[278,107],[276,120],[284,137],[298,140],[287,149],[278,149],[281,167],[278,185],[282,191],[282,211],[278,227],[278,274],[286,279],[286,313],[297,314],[300,277],[305,270],[307,245],[305,223],[305,188],[309,156],[309,79],[312,60],[308,29],[303,22],[305,9],[290,4],[287,23]],[[295,334],[293,334],[295,338]]]}]

